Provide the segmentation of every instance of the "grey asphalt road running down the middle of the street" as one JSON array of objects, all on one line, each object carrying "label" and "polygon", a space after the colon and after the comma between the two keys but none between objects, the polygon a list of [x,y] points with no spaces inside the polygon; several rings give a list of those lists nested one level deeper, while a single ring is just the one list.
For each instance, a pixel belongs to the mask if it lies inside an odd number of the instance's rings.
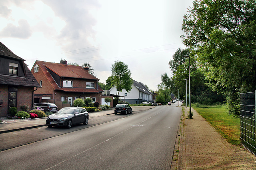
[{"label": "grey asphalt road running down the middle of the street", "polygon": [[0,169],[170,169],[180,114],[176,105],[157,106],[4,150]]}]

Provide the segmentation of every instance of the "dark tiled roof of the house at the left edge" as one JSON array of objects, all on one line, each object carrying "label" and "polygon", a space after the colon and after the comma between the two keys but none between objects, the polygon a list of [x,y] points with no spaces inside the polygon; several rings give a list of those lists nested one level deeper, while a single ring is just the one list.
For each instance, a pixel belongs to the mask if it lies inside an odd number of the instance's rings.
[{"label": "dark tiled roof of the house at the left edge", "polygon": [[6,74],[0,74],[0,84],[8,84],[15,86],[30,86],[30,87],[40,87],[36,78],[30,72],[28,66],[24,63],[24,59],[18,57],[10,49],[8,49],[3,43],[0,42],[0,56],[12,60],[19,60],[24,68],[25,77],[11,76]]}]

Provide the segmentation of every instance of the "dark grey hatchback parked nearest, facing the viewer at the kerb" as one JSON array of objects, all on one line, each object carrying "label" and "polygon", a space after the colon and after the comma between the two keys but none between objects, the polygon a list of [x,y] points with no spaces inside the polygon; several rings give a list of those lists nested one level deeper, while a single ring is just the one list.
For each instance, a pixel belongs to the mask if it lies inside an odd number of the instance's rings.
[{"label": "dark grey hatchback parked nearest, facing the viewer at the kerb", "polygon": [[52,126],[66,126],[72,127],[74,124],[84,123],[88,124],[89,114],[85,108],[82,107],[64,107],[58,113],[49,115],[46,118],[46,125]]}]

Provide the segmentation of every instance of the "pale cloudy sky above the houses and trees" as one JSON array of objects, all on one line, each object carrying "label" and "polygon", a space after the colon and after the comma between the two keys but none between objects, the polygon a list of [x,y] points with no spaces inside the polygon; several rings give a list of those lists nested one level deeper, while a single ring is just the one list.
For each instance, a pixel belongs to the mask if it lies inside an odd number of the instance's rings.
[{"label": "pale cloudy sky above the houses and trees", "polygon": [[25,60],[90,63],[100,82],[115,61],[157,90],[171,76],[182,20],[193,0],[0,0],[0,41]]}]

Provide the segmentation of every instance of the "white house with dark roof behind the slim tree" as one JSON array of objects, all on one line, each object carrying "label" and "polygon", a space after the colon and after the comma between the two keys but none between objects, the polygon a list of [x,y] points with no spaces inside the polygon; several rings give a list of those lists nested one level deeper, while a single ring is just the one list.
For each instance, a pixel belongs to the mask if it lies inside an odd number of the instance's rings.
[{"label": "white house with dark roof behind the slim tree", "polygon": [[[113,86],[110,90],[110,94],[116,94],[116,86]],[[140,104],[145,101],[153,102],[153,94],[148,88],[141,82],[133,80],[132,89],[130,92],[122,90],[119,92],[120,96],[125,97],[125,102],[129,104]]]}]

